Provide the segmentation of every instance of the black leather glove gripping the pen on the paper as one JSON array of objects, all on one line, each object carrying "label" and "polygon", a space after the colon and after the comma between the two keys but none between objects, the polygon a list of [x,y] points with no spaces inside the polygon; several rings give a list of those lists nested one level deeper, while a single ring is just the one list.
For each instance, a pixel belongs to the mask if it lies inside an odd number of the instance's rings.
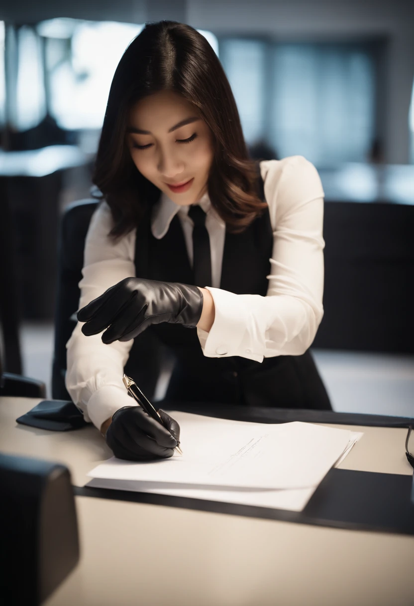
[{"label": "black leather glove gripping the pen on the paper", "polygon": [[105,440],[118,459],[150,461],[173,456],[180,442],[180,426],[163,410],[159,413],[168,430],[140,406],[124,406],[116,411]]}]

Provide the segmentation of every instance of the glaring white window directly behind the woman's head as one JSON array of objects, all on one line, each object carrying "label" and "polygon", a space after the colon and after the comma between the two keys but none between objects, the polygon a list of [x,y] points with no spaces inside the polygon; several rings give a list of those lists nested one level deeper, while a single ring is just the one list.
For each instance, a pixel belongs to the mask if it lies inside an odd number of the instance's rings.
[{"label": "glaring white window directly behind the woman's head", "polygon": [[[45,39],[50,113],[61,128],[100,129],[117,64],[144,25],[50,19]],[[199,30],[218,53],[211,32]]]}]

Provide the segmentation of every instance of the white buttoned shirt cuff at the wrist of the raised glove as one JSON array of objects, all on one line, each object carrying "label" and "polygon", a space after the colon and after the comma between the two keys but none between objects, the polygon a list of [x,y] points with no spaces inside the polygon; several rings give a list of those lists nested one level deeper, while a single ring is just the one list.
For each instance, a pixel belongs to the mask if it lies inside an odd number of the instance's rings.
[{"label": "white buttoned shirt cuff at the wrist of the raised glove", "polygon": [[208,358],[241,356],[262,362],[263,355],[255,353],[250,347],[241,347],[243,340],[246,342],[245,333],[249,325],[249,310],[245,302],[228,290],[206,288],[214,300],[215,316],[209,333],[197,329],[203,354]]}]

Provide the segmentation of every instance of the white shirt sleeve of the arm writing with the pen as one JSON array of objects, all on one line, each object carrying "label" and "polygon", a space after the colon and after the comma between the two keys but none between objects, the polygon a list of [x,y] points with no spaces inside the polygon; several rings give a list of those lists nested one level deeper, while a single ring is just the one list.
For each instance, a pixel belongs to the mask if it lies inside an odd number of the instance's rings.
[{"label": "white shirt sleeve of the arm writing with the pen", "polygon": [[[112,226],[110,208],[103,202],[91,218],[85,240],[79,309],[120,280],[135,276],[136,230],[114,242],[108,237]],[[82,324],[77,322],[66,345],[65,385],[85,421],[100,429],[116,410],[136,405],[122,382],[123,367],[134,341],[106,345],[102,333],[85,336],[80,330]]]}]

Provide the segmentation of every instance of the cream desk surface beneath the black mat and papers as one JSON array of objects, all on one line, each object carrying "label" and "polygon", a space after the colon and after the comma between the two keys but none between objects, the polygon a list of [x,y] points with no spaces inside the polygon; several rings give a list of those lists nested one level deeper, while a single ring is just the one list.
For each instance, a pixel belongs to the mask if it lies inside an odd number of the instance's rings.
[{"label": "cream desk surface beneath the black mat and papers", "polygon": [[[111,451],[94,427],[54,433],[16,424],[36,404],[0,398],[0,450],[62,462],[83,485]],[[340,467],[412,474],[405,429],[352,428],[364,436]],[[414,603],[410,536],[87,497],[76,497],[76,507],[80,563],[45,606]],[[164,542],[154,540],[156,526]]]}]

